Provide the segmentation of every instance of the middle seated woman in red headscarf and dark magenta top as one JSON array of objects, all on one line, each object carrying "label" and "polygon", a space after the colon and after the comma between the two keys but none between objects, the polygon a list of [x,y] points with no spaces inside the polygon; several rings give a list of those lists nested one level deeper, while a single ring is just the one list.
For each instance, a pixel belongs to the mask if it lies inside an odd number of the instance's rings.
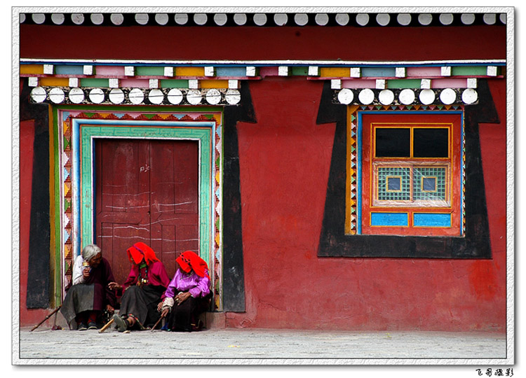
[{"label": "middle seated woman in red headscarf and dark magenta top", "polygon": [[133,244],[128,248],[128,258],[132,267],[126,282],[123,286],[109,284],[110,288],[124,289],[120,314],[113,316],[119,332],[154,325],[161,315],[157,307],[170,283],[166,268],[147,244]]}]

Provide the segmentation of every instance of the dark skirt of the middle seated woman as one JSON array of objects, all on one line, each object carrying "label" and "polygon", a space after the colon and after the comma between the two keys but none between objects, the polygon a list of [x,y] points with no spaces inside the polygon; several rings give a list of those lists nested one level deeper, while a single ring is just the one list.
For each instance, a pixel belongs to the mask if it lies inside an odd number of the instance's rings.
[{"label": "dark skirt of the middle seated woman", "polygon": [[164,290],[163,286],[130,286],[122,296],[120,314],[134,316],[144,327],[151,327],[161,316],[157,305]]}]

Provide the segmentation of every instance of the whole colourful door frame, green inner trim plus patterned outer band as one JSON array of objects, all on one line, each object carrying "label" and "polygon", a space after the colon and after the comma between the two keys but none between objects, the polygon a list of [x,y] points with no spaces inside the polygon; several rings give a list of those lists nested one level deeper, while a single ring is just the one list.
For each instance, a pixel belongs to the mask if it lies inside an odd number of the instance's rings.
[{"label": "whole colourful door frame, green inner trim plus patterned outer band", "polygon": [[74,257],[93,242],[94,139],[171,139],[199,145],[200,254],[215,277],[215,309],[222,308],[222,109],[202,110],[54,109],[56,302]]}]

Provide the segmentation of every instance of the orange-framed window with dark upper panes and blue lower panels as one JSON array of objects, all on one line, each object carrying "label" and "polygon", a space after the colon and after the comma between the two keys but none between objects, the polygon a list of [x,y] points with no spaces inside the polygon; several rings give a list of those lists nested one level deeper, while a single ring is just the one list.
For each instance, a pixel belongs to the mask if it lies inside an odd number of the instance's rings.
[{"label": "orange-framed window with dark upper panes and blue lower panels", "polygon": [[360,120],[356,233],[462,236],[461,115],[364,113]]}]

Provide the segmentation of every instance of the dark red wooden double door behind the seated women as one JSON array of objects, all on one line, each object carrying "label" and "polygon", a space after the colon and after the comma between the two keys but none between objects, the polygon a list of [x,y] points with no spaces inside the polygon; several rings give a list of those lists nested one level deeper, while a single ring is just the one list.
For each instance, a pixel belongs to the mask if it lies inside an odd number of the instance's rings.
[{"label": "dark red wooden double door behind the seated women", "polygon": [[180,253],[199,252],[196,141],[99,139],[95,186],[95,240],[120,283],[137,241],[154,249],[170,277]]}]

